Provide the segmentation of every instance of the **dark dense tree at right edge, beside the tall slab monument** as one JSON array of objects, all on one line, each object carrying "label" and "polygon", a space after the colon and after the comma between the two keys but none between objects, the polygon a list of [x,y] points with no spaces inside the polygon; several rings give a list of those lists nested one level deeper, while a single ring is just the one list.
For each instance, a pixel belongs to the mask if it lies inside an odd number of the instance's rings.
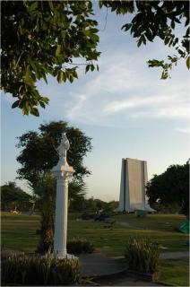
[{"label": "dark dense tree at right edge, beside the tall slab monument", "polygon": [[189,215],[189,161],[171,165],[160,175],[154,175],[147,184],[150,204],[178,204],[181,212]]}]

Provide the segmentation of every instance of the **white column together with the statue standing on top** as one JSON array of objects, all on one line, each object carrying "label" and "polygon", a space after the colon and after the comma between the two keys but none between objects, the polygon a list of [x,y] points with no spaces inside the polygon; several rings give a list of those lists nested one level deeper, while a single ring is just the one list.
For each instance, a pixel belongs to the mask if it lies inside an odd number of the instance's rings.
[{"label": "white column together with the statue standing on top", "polygon": [[73,175],[73,168],[66,161],[66,152],[70,144],[65,135],[62,134],[61,143],[57,148],[59,161],[52,169],[56,177],[56,222],[54,235],[54,254],[58,257],[72,257],[66,251],[67,238],[67,213],[68,213],[68,180]]}]

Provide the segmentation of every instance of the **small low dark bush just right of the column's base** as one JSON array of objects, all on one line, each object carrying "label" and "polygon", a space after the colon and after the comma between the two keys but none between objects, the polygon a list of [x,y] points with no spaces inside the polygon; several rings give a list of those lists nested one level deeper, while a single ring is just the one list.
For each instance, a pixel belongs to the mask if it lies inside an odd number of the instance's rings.
[{"label": "small low dark bush just right of the column's base", "polygon": [[92,253],[94,251],[94,246],[89,241],[82,241],[73,239],[72,241],[67,241],[67,252],[70,254],[82,254],[82,253]]}]

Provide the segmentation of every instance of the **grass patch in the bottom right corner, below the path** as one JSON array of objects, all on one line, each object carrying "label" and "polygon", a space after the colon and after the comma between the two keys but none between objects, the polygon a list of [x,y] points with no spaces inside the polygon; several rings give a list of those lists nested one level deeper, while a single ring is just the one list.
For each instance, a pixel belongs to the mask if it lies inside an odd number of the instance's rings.
[{"label": "grass patch in the bottom right corner, below the path", "polygon": [[170,286],[189,286],[189,261],[180,259],[160,260],[160,279],[158,283]]}]

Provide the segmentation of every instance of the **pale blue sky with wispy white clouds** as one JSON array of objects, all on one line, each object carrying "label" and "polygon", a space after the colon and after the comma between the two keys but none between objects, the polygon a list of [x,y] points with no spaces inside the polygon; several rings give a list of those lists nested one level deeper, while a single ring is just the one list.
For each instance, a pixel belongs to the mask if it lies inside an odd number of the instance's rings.
[{"label": "pale blue sky with wispy white clouds", "polygon": [[[95,3],[96,5],[96,3]],[[99,72],[85,74],[80,68],[74,83],[59,84],[48,76],[39,91],[50,99],[40,117],[22,116],[11,109],[13,98],[1,97],[1,184],[13,181],[20,167],[16,137],[53,120],[65,120],[92,138],[92,152],[84,159],[91,170],[85,178],[87,197],[118,200],[122,158],[148,163],[148,178],[171,164],[189,158],[189,81],[185,62],[160,80],[161,70],[148,68],[149,59],[163,59],[174,52],[160,39],[137,48],[136,39],[121,30],[126,16],[99,10]],[[106,21],[107,19],[107,21]],[[181,33],[179,27],[177,33]],[[175,53],[175,52],[174,52]],[[77,63],[80,63],[80,59]],[[15,180],[25,191],[27,183]]]}]

